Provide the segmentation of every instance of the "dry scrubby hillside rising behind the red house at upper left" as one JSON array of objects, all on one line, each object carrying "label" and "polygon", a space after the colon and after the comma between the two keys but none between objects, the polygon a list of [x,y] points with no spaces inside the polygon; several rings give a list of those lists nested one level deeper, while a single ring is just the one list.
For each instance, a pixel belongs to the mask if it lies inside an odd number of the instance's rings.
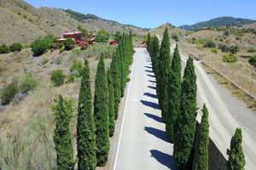
[{"label": "dry scrubby hillside rising behind the red house at upper left", "polygon": [[34,8],[23,0],[0,2],[0,44],[31,43],[40,36],[52,34],[62,37],[63,32],[82,26],[89,31],[147,31],[136,26],[122,25],[99,17],[75,20],[72,14],[60,8]]}]

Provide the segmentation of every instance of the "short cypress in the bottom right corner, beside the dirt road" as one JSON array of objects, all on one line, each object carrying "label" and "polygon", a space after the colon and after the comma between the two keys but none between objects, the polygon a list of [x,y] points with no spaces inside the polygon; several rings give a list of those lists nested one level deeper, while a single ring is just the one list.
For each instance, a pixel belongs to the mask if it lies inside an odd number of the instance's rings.
[{"label": "short cypress in the bottom right corner, beside the dirt road", "polygon": [[244,170],[246,164],[241,147],[241,128],[236,128],[236,133],[230,141],[230,150],[227,150],[229,160],[227,161],[228,170]]}]

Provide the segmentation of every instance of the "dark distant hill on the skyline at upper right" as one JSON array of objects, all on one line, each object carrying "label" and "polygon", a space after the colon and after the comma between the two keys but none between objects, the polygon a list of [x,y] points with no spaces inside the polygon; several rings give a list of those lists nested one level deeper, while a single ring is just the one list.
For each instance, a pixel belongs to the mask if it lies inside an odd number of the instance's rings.
[{"label": "dark distant hill on the skyline at upper right", "polygon": [[[256,20],[248,20],[248,19],[240,19],[233,17],[219,17],[216,19],[203,21],[196,23],[194,25],[185,25],[184,29],[189,31],[196,31],[198,29],[202,29],[203,27],[222,27],[222,26],[239,26],[248,25],[256,23]],[[183,26],[178,26],[178,28],[183,29]]]}]

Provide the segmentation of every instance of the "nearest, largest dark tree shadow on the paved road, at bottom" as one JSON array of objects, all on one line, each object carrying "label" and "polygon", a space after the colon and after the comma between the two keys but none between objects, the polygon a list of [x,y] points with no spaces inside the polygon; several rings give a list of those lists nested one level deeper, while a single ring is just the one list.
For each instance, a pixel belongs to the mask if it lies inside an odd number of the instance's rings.
[{"label": "nearest, largest dark tree shadow on the paved road, at bottom", "polygon": [[170,169],[177,170],[172,156],[163,153],[160,150],[150,150],[150,153],[151,157],[154,157],[154,159],[156,159],[156,161],[159,161],[162,165]]}]

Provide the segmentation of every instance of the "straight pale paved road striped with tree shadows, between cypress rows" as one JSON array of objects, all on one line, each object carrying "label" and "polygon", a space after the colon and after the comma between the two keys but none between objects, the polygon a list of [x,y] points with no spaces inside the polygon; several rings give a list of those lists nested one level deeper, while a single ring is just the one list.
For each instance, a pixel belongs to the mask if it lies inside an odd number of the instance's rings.
[{"label": "straight pale paved road striped with tree shadows, between cypress rows", "polygon": [[177,169],[160,118],[155,78],[146,48],[135,48],[114,170]]}]

